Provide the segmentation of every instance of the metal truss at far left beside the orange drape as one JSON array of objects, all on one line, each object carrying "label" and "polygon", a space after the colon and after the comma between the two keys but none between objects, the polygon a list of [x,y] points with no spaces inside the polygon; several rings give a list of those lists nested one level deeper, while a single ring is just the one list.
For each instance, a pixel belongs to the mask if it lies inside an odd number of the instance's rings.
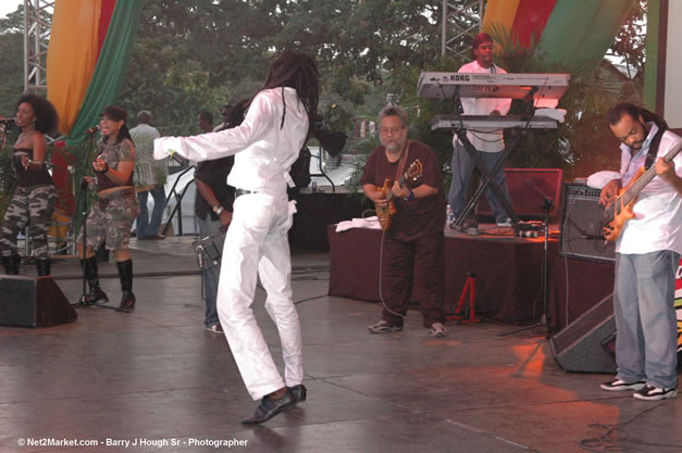
[{"label": "metal truss at far left beside the orange drape", "polygon": [[[48,11],[49,9],[49,11]],[[24,91],[47,92],[47,55],[54,1],[24,0]]]}]

